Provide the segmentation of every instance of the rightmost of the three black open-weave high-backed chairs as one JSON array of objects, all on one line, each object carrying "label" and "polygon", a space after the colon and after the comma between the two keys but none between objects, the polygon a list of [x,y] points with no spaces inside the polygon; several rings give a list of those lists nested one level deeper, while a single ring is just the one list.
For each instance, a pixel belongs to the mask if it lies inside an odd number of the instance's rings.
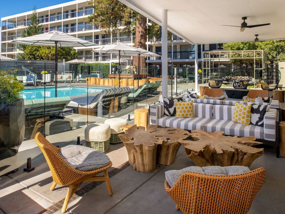
[{"label": "rightmost of the three black open-weave high-backed chairs", "polygon": [[280,82],[281,72],[276,68],[264,68],[258,72],[258,80],[263,90],[276,90]]}]

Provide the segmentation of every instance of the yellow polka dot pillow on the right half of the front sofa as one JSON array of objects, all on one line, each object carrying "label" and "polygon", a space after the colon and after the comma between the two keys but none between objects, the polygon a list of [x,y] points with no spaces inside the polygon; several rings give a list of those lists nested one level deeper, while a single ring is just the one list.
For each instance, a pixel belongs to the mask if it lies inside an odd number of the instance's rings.
[{"label": "yellow polka dot pillow on the right half of the front sofa", "polygon": [[236,103],[233,113],[233,122],[248,126],[250,124],[251,104],[243,105]]}]

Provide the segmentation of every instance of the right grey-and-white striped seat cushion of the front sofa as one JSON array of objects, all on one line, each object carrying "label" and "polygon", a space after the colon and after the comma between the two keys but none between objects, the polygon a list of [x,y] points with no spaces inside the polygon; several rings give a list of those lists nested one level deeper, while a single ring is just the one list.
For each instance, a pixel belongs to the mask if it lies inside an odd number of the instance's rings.
[{"label": "right grey-and-white striped seat cushion of the front sofa", "polygon": [[253,124],[249,124],[245,126],[243,124],[235,123],[231,120],[219,120],[213,119],[210,120],[209,123],[204,125],[205,132],[215,132],[215,131],[223,131],[225,135],[230,136],[255,136],[258,139],[264,139],[264,129],[260,126],[255,126]]}]

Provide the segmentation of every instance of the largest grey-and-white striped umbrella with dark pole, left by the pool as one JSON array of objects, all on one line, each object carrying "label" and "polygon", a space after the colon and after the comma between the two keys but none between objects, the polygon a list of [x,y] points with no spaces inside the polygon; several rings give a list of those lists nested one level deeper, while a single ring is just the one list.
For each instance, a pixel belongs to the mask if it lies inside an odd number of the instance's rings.
[{"label": "largest grey-and-white striped umbrella with dark pole, left by the pool", "polygon": [[57,47],[91,47],[96,45],[60,31],[50,31],[39,35],[15,39],[11,43],[55,47],[55,97],[57,97]]}]

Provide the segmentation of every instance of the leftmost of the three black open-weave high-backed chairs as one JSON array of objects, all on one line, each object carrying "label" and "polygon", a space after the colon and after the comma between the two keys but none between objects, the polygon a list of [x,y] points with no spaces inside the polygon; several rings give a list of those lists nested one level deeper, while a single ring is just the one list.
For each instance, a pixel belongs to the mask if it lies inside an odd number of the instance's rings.
[{"label": "leftmost of the three black open-weave high-backed chairs", "polygon": [[207,71],[210,88],[220,88],[225,80],[225,70],[223,68],[211,68]]}]

